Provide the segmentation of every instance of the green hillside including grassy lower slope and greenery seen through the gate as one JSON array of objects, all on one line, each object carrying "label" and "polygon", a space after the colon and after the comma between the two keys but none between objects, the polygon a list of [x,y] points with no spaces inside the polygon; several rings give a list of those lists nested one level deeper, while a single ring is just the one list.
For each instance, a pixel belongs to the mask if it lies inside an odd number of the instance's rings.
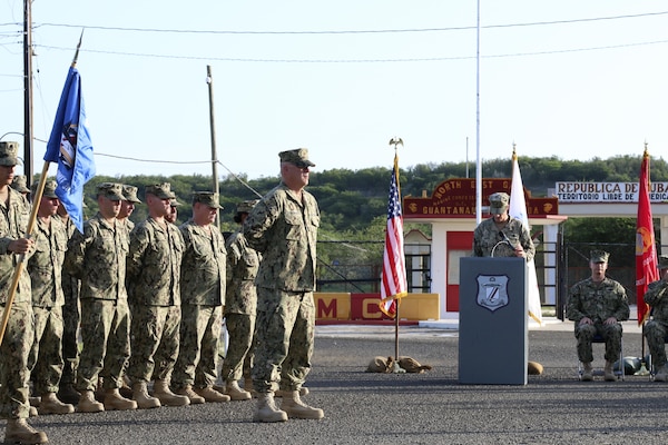
[{"label": "green hillside including grassy lower slope and greenery seen through the gate", "polygon": [[[621,156],[609,159],[595,158],[589,161],[561,160],[556,156],[547,158],[520,158],[520,170],[524,187],[532,196],[547,196],[548,190],[558,181],[619,181],[636,182],[640,171],[640,156]],[[484,178],[510,178],[510,159],[493,159],[482,164]],[[421,196],[436,185],[450,178],[475,177],[475,166],[465,162],[428,164],[400,170],[402,196]],[[308,190],[317,198],[322,221],[318,236],[318,260],[321,278],[346,279],[379,276],[387,211],[387,191],[391,170],[384,167],[361,170],[332,169],[311,174]],[[219,181],[220,201],[225,207],[220,211],[220,229],[234,231],[233,221],[236,204],[254,199],[278,184],[278,177],[249,179],[228,176]],[[668,165],[662,159],[652,159],[651,180],[668,181]],[[86,186],[87,215],[97,211],[95,187],[104,181],[118,181],[139,187],[139,197],[150,184],[170,182],[176,192],[179,207],[178,222],[191,215],[190,194],[194,190],[210,190],[212,177],[207,176],[98,176]],[[138,205],[131,219],[146,218],[146,206]],[[405,230],[418,228],[431,235],[430,225],[406,224]],[[563,227],[566,243],[586,244],[633,244],[636,233],[635,218],[571,218]],[[660,230],[655,228],[657,238]],[[660,245],[660,239],[658,239]],[[337,265],[334,269],[331,265]]]}]

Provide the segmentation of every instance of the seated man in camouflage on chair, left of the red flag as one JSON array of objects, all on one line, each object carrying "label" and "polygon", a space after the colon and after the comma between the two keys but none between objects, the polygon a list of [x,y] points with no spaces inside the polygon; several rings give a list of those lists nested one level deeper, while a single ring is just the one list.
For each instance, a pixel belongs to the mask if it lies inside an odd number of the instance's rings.
[{"label": "seated man in camouflage on chair, left of the red flag", "polygon": [[629,303],[626,290],[616,280],[606,276],[608,257],[603,250],[592,250],[589,258],[591,277],[571,287],[566,316],[576,322],[578,359],[582,362],[582,380],[593,379],[591,339],[600,335],[606,340],[606,382],[616,379],[612,372],[615,360],[621,352],[621,323],[629,319]]}]

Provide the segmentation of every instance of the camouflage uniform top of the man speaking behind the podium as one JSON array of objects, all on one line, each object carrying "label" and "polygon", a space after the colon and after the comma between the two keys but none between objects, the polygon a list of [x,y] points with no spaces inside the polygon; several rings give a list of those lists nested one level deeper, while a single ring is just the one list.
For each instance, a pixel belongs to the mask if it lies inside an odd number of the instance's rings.
[{"label": "camouflage uniform top of the man speaking behind the podium", "polygon": [[[504,238],[500,233],[505,234],[512,246],[503,243]],[[473,256],[475,257],[491,257],[492,250],[494,257],[514,257],[513,246],[518,245],[524,249],[527,261],[533,259],[536,247],[529,229],[522,221],[513,217],[509,217],[508,222],[501,229],[494,224],[494,218],[489,218],[480,222],[473,231]]]}]

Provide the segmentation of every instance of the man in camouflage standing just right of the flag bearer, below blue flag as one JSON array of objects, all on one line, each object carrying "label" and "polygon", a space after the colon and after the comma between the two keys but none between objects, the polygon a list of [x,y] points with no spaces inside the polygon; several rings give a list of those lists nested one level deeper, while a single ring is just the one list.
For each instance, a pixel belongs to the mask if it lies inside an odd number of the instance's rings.
[{"label": "man in camouflage standing just right of the flag bearer, below blue flag", "polygon": [[[39,182],[32,185],[37,196]],[[68,234],[65,224],[56,216],[60,201],[56,196],[55,180],[45,182],[37,210],[35,230],[36,250],[28,260],[32,285],[32,312],[35,313],[35,343],[28,358],[32,373],[33,393],[41,397],[40,414],[70,414],[75,407],[58,399],[62,375],[62,263],[67,250]]]}]

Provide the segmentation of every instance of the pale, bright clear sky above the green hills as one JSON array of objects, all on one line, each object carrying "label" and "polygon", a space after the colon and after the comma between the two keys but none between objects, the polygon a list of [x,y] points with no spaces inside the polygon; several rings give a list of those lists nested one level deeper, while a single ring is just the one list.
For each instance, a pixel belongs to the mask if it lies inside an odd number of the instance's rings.
[{"label": "pale, bright clear sky above the green hills", "polygon": [[[21,147],[22,22],[0,0],[0,137]],[[212,175],[209,98],[220,178],[277,176],[294,148],[390,168],[394,137],[402,168],[668,150],[659,0],[33,0],[32,23],[36,172],[82,30],[98,175]]]}]

